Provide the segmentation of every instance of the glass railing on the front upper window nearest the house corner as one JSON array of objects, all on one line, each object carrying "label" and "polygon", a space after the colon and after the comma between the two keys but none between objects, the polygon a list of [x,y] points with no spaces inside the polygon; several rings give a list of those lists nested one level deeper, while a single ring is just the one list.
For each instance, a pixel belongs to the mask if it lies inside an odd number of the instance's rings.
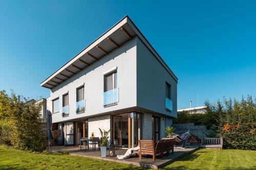
[{"label": "glass railing on the front upper window nearest the house corner", "polygon": [[103,94],[102,94],[103,106],[110,106],[110,105],[114,105],[114,104],[118,103],[119,102],[118,91],[119,91],[119,89],[115,88],[113,90],[103,92]]}]

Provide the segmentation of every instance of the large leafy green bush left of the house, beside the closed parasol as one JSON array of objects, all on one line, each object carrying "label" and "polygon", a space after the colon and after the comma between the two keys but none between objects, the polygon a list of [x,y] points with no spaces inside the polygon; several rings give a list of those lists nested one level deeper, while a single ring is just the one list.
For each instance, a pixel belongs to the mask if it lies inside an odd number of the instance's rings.
[{"label": "large leafy green bush left of the house, beside the closed parasol", "polygon": [[40,132],[42,118],[41,103],[35,101],[18,102],[12,95],[11,123],[13,133],[11,143],[22,150],[42,151],[45,149],[45,135]]}]

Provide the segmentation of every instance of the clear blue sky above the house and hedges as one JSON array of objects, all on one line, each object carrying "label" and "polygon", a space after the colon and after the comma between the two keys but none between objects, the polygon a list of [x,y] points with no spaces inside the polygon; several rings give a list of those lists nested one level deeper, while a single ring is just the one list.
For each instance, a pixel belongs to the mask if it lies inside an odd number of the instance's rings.
[{"label": "clear blue sky above the house and hedges", "polygon": [[256,1],[2,1],[0,90],[40,83],[129,15],[179,78],[178,108],[256,95]]}]

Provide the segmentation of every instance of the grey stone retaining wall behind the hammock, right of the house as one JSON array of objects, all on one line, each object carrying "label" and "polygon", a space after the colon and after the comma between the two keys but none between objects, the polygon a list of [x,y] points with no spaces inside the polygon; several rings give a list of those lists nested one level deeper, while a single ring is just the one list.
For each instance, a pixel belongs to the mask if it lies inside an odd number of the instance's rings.
[{"label": "grey stone retaining wall behind the hammock, right of the house", "polygon": [[194,123],[189,124],[173,124],[173,127],[175,127],[176,134],[181,134],[184,132],[187,132],[189,130],[189,133],[191,135],[197,136],[199,139],[203,139],[206,137],[206,134],[209,132],[209,130],[206,129],[205,126],[195,126]]}]

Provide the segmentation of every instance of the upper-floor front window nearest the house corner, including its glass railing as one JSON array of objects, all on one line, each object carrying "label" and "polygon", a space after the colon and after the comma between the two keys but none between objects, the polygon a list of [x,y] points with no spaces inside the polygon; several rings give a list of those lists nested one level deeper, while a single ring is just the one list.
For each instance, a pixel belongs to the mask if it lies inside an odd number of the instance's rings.
[{"label": "upper-floor front window nearest the house corner, including its glass railing", "polygon": [[103,106],[115,105],[118,101],[117,72],[114,71],[104,76]]}]

